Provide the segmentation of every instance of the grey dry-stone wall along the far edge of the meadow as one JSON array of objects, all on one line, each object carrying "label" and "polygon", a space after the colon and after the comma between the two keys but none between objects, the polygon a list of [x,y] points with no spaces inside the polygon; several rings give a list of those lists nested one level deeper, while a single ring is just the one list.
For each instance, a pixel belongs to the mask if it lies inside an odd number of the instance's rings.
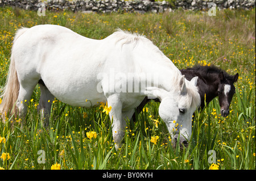
[{"label": "grey dry-stone wall along the far edge of the meadow", "polygon": [[47,0],[39,4],[40,0],[0,0],[1,6],[14,6],[26,10],[38,10],[45,5],[47,10],[71,10],[90,12],[164,12],[176,9],[207,10],[211,5],[218,9],[243,9],[249,10],[255,7],[255,0]]}]

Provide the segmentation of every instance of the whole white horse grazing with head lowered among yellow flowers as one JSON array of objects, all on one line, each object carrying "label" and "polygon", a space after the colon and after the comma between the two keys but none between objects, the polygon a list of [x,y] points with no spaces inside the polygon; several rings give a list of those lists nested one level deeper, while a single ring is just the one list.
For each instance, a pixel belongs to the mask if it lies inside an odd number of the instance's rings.
[{"label": "whole white horse grazing with head lowered among yellow flowers", "polygon": [[160,99],[160,117],[171,136],[180,133],[183,143],[191,136],[192,114],[200,104],[197,77],[187,81],[150,40],[121,30],[103,40],[55,25],[18,30],[0,113],[16,107],[20,117],[26,116],[24,101],[30,100],[38,83],[44,117],[49,116],[55,97],[85,108],[108,102],[116,148],[121,146],[126,119],[145,96]]}]

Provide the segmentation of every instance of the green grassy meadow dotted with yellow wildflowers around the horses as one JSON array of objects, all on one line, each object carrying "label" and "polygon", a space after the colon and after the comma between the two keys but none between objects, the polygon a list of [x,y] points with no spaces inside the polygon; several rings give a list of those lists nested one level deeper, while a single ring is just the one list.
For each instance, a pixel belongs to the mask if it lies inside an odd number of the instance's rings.
[{"label": "green grassy meadow dotted with yellow wildflowers around the horses", "polygon": [[[228,117],[218,99],[193,117],[187,148],[172,148],[159,103],[151,101],[137,120],[127,121],[122,148],[115,150],[105,105],[85,109],[55,99],[49,127],[37,111],[40,89],[30,100],[23,128],[20,119],[0,120],[0,169],[217,169],[255,170],[255,9],[207,12],[177,10],[164,14],[82,14],[0,7],[0,88],[6,82],[15,31],[38,24],[59,24],[92,39],[104,39],[116,28],[143,34],[177,68],[216,65],[239,73]],[[1,103],[1,99],[0,99]],[[14,124],[14,127],[11,127]],[[212,150],[212,151],[210,151]],[[213,153],[213,154],[210,154]],[[216,156],[216,157],[214,157]]]}]

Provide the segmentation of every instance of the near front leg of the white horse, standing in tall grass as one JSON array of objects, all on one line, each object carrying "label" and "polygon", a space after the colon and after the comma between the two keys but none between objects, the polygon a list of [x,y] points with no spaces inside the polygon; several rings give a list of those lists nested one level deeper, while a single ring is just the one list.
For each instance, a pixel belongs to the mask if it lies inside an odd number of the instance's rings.
[{"label": "near front leg of the white horse, standing in tall grass", "polygon": [[115,149],[121,148],[122,138],[125,136],[126,121],[122,119],[122,102],[117,95],[109,96],[108,107],[112,107],[109,112],[110,119],[113,119],[112,132],[115,142]]}]

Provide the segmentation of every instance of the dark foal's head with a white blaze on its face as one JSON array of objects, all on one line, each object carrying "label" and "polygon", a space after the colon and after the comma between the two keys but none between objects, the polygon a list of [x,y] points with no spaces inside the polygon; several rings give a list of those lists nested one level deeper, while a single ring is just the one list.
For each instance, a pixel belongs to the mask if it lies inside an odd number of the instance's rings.
[{"label": "dark foal's head with a white blaze on its face", "polygon": [[218,100],[221,107],[221,116],[226,117],[229,115],[229,106],[233,95],[236,93],[234,82],[237,82],[238,73],[229,76],[221,71],[218,74]]}]

